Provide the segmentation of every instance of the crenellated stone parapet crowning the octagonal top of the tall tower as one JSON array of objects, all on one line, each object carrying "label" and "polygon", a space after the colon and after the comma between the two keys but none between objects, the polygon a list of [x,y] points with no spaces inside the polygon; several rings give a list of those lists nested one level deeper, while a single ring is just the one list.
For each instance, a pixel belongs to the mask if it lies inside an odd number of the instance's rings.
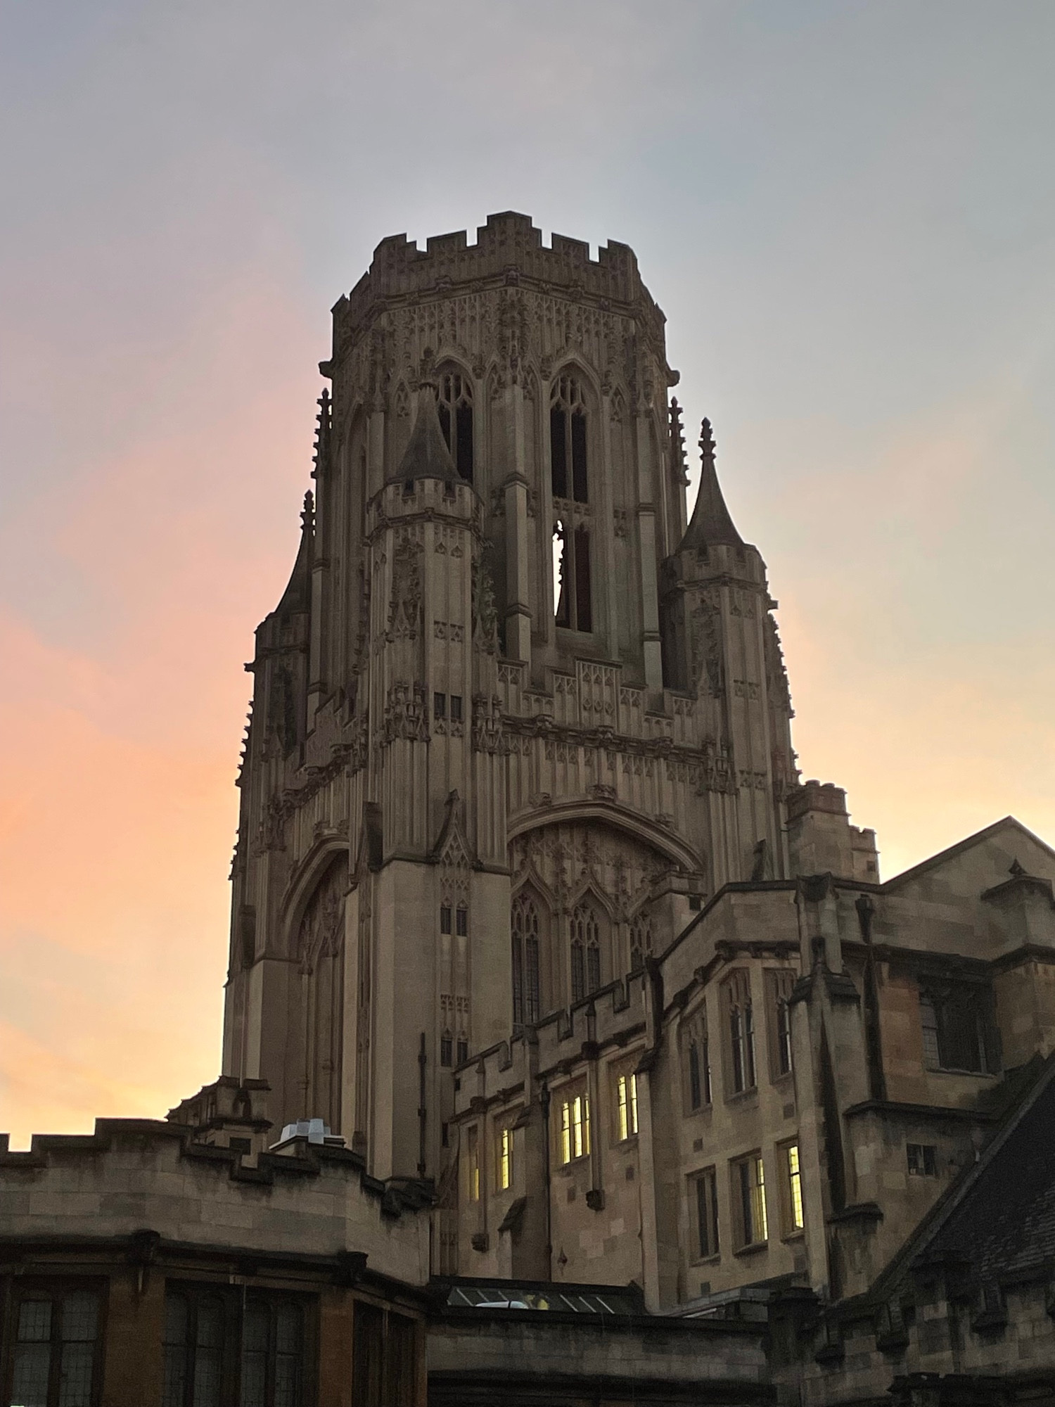
[{"label": "crenellated stone parapet crowning the octagonal top of the tall tower", "polygon": [[550,246],[529,215],[504,211],[488,215],[475,243],[464,229],[432,235],[419,249],[407,235],[388,235],[374,249],[367,273],[333,307],[335,349],[363,326],[378,303],[390,298],[450,293],[481,283],[516,284],[522,280],[561,290],[580,300],[629,308],[644,304],[663,326],[664,317],[641,283],[637,256],[629,245],[609,241],[591,259],[582,239],[554,234]]}]

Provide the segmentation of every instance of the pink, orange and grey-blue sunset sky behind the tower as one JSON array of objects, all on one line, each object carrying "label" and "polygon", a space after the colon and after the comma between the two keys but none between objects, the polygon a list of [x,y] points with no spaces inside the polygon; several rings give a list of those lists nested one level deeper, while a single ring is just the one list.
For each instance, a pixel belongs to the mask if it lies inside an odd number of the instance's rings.
[{"label": "pink, orange and grey-blue sunset sky behind the tower", "polygon": [[0,0],[0,1128],[212,1079],[252,632],[384,235],[630,243],[886,877],[1055,840],[1052,0]]}]

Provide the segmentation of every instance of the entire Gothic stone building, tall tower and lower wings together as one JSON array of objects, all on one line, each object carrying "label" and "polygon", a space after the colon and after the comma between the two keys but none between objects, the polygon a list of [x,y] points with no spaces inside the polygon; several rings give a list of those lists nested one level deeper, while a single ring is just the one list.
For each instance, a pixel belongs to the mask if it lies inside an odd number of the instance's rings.
[{"label": "entire Gothic stone building, tall tower and lower wings together", "polygon": [[294,1320],[263,1407],[1055,1403],[1055,853],[1006,817],[882,881],[800,781],[633,253],[387,239],[321,370],[224,1074],[0,1152],[0,1400],[24,1292],[91,1282],[90,1407],[159,1400],[203,1293],[217,1404]]}]

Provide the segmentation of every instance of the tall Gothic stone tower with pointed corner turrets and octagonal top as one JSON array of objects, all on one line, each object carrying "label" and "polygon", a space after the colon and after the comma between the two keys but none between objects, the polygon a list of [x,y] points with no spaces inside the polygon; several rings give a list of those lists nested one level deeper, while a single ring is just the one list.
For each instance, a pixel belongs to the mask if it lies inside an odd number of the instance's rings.
[{"label": "tall Gothic stone tower with pointed corner turrets and octagonal top", "polygon": [[788,684],[633,252],[492,215],[333,308],[315,492],[260,625],[224,1069],[381,1178],[452,1069],[786,872]]}]

